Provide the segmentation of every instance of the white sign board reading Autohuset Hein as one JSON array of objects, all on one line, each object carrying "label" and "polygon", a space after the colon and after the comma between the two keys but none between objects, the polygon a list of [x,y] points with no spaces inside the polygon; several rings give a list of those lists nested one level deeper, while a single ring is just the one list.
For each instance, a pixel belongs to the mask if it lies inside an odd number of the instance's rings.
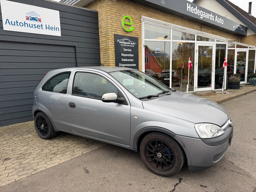
[{"label": "white sign board reading Autohuset Hein", "polygon": [[61,36],[59,11],[0,0],[3,30]]}]

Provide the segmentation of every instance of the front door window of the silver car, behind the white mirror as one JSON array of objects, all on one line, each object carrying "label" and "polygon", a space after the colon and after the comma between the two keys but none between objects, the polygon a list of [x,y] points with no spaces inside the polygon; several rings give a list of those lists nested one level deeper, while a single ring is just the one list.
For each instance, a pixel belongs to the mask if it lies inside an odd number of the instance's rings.
[{"label": "front door window of the silver car, behind the white mirror", "polygon": [[117,94],[117,88],[106,78],[94,73],[75,74],[72,94],[101,99],[105,93]]}]

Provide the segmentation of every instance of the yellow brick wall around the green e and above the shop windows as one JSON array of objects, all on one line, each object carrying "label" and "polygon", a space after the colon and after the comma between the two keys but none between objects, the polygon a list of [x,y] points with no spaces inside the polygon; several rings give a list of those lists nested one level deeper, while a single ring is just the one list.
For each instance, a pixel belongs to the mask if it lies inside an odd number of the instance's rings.
[{"label": "yellow brick wall around the green e and above the shop windows", "polygon": [[[210,33],[221,37],[235,39],[239,42],[239,36],[223,32],[218,28],[202,25],[176,15],[167,14],[163,11],[153,9],[144,5],[127,0],[95,0],[85,8],[97,10],[99,17],[99,41],[101,63],[105,66],[115,66],[115,42],[114,34],[127,35],[139,38],[139,69],[142,69],[141,58],[141,16],[146,16],[175,25],[188,27],[203,33]],[[123,30],[121,21],[125,15],[129,15],[133,20],[134,30],[126,32]]]}]

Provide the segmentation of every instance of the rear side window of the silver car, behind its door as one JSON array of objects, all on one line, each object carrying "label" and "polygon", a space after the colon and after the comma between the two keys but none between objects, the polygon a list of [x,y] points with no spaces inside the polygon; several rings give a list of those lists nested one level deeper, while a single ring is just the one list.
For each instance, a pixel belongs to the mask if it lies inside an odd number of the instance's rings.
[{"label": "rear side window of the silver car, behind its door", "polygon": [[42,86],[42,90],[66,94],[70,74],[71,72],[67,71],[54,75]]}]

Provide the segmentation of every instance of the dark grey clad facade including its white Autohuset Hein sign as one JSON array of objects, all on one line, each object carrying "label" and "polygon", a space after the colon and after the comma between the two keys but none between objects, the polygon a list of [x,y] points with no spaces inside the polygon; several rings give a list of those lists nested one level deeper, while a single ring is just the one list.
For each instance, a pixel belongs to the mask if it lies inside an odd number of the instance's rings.
[{"label": "dark grey clad facade including its white Autohuset Hein sign", "polygon": [[45,73],[99,66],[100,52],[95,10],[43,0],[0,5],[1,127],[33,120],[33,92]]}]

